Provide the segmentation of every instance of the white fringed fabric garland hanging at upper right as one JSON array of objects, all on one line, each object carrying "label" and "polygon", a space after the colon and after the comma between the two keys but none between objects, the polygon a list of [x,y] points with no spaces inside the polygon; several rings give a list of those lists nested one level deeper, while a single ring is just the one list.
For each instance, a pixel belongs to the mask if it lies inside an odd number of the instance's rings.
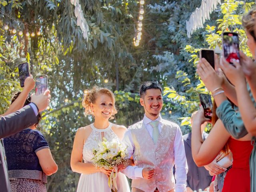
[{"label": "white fringed fabric garland hanging at upper right", "polygon": [[202,0],[200,8],[196,8],[189,20],[186,21],[188,38],[195,30],[204,27],[205,21],[210,19],[210,14],[217,8],[218,4],[221,4],[220,0]]}]

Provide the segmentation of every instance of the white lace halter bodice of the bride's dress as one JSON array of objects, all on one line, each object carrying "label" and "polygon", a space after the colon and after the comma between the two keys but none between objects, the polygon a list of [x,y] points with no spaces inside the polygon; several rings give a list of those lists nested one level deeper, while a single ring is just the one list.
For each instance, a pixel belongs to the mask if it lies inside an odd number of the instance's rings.
[{"label": "white lace halter bodice of the bride's dress", "polygon": [[109,126],[106,129],[97,129],[93,124],[90,125],[92,128],[91,134],[88,136],[83,147],[83,160],[84,162],[91,163],[94,157],[92,151],[98,147],[98,142],[102,141],[102,135],[106,140],[111,141],[116,139],[119,141],[118,136],[112,130],[112,123],[109,122]]}]

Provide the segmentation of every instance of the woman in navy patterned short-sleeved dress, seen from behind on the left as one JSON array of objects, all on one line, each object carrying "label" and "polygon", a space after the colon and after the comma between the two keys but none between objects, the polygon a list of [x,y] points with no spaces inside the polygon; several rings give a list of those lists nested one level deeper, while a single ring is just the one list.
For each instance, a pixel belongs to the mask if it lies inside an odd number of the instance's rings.
[{"label": "woman in navy patterned short-sleeved dress, seen from behind on the left", "polygon": [[[12,102],[20,92],[14,95]],[[30,104],[28,95],[24,104]],[[41,114],[38,114],[38,122]],[[12,192],[46,192],[46,175],[54,174],[58,166],[52,158],[49,145],[34,124],[21,132],[4,138],[4,149]]]}]

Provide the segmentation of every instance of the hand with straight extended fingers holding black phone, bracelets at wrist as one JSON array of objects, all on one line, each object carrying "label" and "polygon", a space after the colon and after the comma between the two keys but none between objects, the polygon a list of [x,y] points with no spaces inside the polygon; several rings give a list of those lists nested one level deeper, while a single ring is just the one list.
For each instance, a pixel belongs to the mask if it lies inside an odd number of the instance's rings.
[{"label": "hand with straight extended fingers holding black phone, bracelets at wrist", "polygon": [[198,65],[196,66],[196,72],[204,82],[205,86],[211,92],[216,88],[220,88],[224,82],[222,76],[219,76],[218,73],[212,68],[212,66],[207,62],[205,58],[199,60]]}]

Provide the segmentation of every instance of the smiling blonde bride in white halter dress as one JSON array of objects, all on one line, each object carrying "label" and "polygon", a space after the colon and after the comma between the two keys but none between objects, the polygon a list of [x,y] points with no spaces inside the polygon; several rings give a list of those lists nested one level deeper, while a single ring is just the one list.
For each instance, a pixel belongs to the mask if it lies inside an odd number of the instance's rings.
[{"label": "smiling blonde bride in white halter dress", "polygon": [[[94,123],[79,128],[74,139],[70,165],[72,171],[81,173],[77,192],[111,192],[108,176],[112,170],[95,167],[92,164],[92,151],[97,148],[97,142],[102,141],[103,137],[108,141],[121,141],[126,127],[108,121],[117,113],[114,94],[110,90],[94,86],[84,95],[82,104],[85,114],[93,115],[95,120]],[[128,163],[132,165],[133,161],[129,160]],[[124,164],[118,166],[118,171],[122,169]],[[118,192],[130,192],[124,174],[118,172],[116,183]]]}]

